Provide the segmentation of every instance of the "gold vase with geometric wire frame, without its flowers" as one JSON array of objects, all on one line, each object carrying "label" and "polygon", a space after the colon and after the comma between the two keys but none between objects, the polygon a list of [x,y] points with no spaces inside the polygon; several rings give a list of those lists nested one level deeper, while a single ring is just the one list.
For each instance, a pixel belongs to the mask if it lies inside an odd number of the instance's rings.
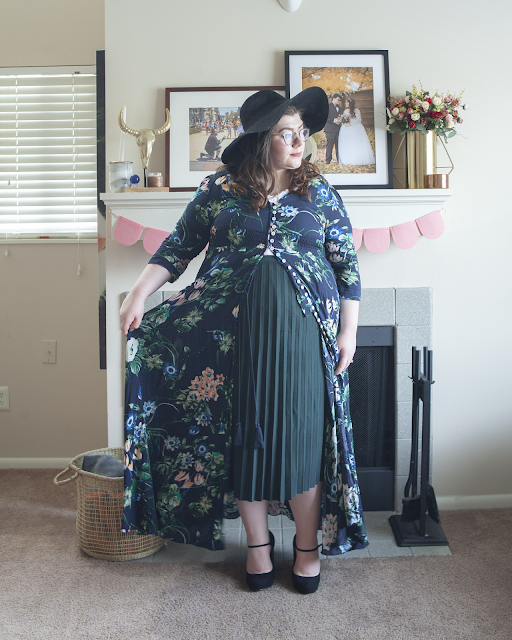
[{"label": "gold vase with geometric wire frame, without its flowers", "polygon": [[[420,131],[407,131],[405,135],[400,136],[400,144],[393,157],[393,166],[397,171],[402,172],[402,180],[396,173],[394,173],[395,179],[407,189],[424,189],[427,187],[427,183],[430,186],[430,182],[427,176],[432,176],[437,173],[437,169],[450,169],[447,175],[453,171],[453,162],[448,154],[444,142],[433,131],[427,132],[427,134]],[[441,167],[438,165],[438,153],[437,153],[437,141],[440,140],[441,144],[446,151],[448,160],[450,161],[449,167]],[[405,145],[404,145],[405,142]],[[395,160],[402,150],[402,162],[405,166],[395,166]],[[405,157],[404,157],[405,156]],[[399,160],[400,162],[400,160]],[[405,178],[405,180],[404,180]],[[447,182],[446,182],[447,184]]]}]

